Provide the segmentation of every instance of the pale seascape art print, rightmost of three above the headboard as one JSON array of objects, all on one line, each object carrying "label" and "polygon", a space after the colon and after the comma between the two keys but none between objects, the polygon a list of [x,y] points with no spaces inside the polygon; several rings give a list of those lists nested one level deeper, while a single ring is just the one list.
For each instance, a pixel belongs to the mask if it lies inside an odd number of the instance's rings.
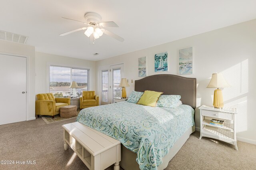
[{"label": "pale seascape art print, rightmost of three above the headboard", "polygon": [[179,51],[179,75],[193,73],[193,47]]}]

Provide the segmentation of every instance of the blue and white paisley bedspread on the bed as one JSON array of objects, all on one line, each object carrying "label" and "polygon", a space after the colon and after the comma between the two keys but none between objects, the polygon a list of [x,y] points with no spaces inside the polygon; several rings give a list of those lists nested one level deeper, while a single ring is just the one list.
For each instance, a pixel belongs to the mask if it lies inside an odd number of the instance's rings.
[{"label": "blue and white paisley bedspread on the bed", "polygon": [[194,125],[194,109],[188,105],[172,109],[124,101],[82,109],[76,121],[119,140],[137,153],[140,169],[157,170],[162,157]]}]

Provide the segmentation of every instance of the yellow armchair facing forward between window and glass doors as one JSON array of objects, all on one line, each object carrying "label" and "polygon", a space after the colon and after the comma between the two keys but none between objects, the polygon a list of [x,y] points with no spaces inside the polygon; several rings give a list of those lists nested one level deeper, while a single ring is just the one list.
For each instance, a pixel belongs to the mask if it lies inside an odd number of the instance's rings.
[{"label": "yellow armchair facing forward between window and glass doors", "polygon": [[99,105],[99,96],[95,95],[95,91],[83,91],[80,97],[80,109]]}]

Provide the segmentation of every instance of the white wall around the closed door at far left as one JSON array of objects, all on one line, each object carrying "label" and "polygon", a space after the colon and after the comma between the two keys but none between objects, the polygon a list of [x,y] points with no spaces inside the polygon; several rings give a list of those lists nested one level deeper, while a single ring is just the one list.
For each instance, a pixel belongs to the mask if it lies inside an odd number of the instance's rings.
[{"label": "white wall around the closed door at far left", "polygon": [[[23,55],[28,60],[28,109],[26,120],[36,119],[35,117],[35,47],[20,43],[0,40],[0,53]],[[14,96],[15,98],[15,96]],[[15,104],[15,103],[14,103]]]}]

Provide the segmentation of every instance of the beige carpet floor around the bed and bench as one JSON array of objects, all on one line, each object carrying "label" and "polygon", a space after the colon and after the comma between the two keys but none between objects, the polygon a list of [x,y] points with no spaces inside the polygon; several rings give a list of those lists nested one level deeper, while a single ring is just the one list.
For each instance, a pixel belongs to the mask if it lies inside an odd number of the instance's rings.
[{"label": "beige carpet floor around the bed and bench", "polygon": [[[64,150],[62,125],[76,119],[46,124],[42,118],[0,126],[1,170],[88,170],[69,147]],[[169,162],[167,170],[255,170],[256,145],[238,141],[238,151],[225,142],[194,132]],[[20,161],[20,162],[19,162]],[[25,164],[22,164],[24,161]],[[30,161],[30,164],[27,164]],[[34,161],[34,162],[33,162]],[[28,162],[29,163],[29,162]],[[113,166],[107,168],[113,170]]]}]

